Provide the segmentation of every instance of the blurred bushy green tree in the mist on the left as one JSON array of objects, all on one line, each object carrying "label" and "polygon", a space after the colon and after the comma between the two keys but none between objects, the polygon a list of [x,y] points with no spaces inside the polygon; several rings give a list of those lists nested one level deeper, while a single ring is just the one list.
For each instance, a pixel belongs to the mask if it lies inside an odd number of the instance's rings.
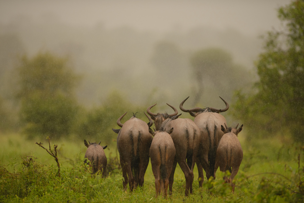
[{"label": "blurred bushy green tree in the mist on the left", "polygon": [[22,57],[19,71],[21,121],[29,137],[54,138],[71,132],[78,105],[74,88],[79,81],[65,58],[39,53],[32,59]]}]

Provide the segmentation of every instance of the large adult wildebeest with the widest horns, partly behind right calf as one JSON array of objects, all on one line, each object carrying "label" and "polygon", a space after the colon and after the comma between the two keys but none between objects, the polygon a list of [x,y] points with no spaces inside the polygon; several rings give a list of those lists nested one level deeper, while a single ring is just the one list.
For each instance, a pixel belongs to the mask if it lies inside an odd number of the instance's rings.
[{"label": "large adult wildebeest with the widest horns, partly behind right calf", "polygon": [[[219,140],[222,138],[224,133],[220,130],[221,125],[226,124],[226,119],[223,115],[220,115],[220,112],[225,112],[229,108],[229,104],[223,98],[221,98],[225,104],[226,108],[217,109],[212,107],[207,108],[192,108],[185,109],[183,108],[184,102],[188,99],[184,99],[179,105],[179,108],[183,112],[188,112],[190,115],[195,117],[194,122],[199,127],[201,134],[201,143],[198,152],[198,159],[196,159],[197,169],[199,173],[199,187],[202,187],[204,181],[203,170],[206,172],[206,177],[209,179],[210,176],[213,176],[215,157],[216,157],[216,148],[219,143]],[[213,177],[214,178],[214,177]]]}]

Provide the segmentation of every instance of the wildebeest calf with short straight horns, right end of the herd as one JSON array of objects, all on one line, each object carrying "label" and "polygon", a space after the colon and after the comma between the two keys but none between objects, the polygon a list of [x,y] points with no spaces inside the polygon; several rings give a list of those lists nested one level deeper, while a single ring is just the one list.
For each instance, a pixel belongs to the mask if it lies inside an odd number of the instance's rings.
[{"label": "wildebeest calf with short straight horns, right end of the herd", "polygon": [[[237,124],[237,126],[238,125],[239,124]],[[243,129],[243,125],[241,125],[239,129],[237,129],[237,126],[235,128],[228,128],[226,124],[225,126],[226,129],[224,126],[221,126],[221,130],[225,134],[219,141],[219,145],[216,150],[214,177],[218,167],[219,170],[223,172],[229,170],[231,173],[229,179],[226,176],[224,176],[223,179],[226,183],[231,184],[232,192],[234,193],[235,182],[233,183],[233,178],[237,175],[243,159],[243,150],[240,141],[237,139],[237,135]]]}]

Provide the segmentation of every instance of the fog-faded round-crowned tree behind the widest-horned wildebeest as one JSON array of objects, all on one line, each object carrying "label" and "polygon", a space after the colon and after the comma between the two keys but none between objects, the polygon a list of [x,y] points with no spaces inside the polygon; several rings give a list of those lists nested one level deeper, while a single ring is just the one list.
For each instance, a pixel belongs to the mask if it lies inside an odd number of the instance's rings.
[{"label": "fog-faded round-crowned tree behind the widest-horned wildebeest", "polygon": [[207,95],[208,88],[212,87],[211,91],[220,92],[223,98],[228,99],[233,90],[251,81],[245,68],[235,64],[231,54],[220,48],[196,51],[191,55],[190,63],[197,83],[193,105],[202,95]]}]

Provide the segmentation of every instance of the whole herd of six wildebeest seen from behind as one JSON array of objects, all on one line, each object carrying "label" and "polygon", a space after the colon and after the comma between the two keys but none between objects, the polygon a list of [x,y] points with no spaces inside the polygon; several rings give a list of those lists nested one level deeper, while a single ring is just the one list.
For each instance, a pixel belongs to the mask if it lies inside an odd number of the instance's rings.
[{"label": "whole herd of six wildebeest seen from behind", "polygon": [[[181,114],[178,115],[178,110],[169,104],[167,105],[174,110],[172,114],[152,113],[151,108],[156,104],[148,107],[147,113],[150,116],[144,112],[149,119],[148,123],[133,114],[122,124],[120,121],[127,112],[118,118],[117,125],[121,129],[112,130],[118,133],[117,149],[125,191],[128,183],[130,191],[136,189],[138,185],[143,187],[144,175],[151,159],[156,197],[162,193],[167,198],[168,187],[169,194],[172,194],[177,163],[185,174],[185,196],[192,194],[195,163],[199,173],[199,187],[202,187],[204,181],[203,169],[206,178],[209,179],[215,178],[219,167],[223,172],[230,171],[230,177],[224,176],[223,179],[231,184],[234,192],[233,178],[243,159],[243,150],[237,135],[243,129],[243,125],[239,129],[237,129],[238,124],[235,128],[227,126],[225,117],[219,113],[227,111],[229,104],[221,97],[226,105],[223,109],[212,107],[185,109],[183,104],[188,98],[181,102],[179,108],[195,117],[194,121],[178,118]],[[154,131],[150,128],[153,123]],[[102,147],[100,143],[90,142],[88,145],[86,140],[84,142],[88,147],[85,162],[89,160],[92,173],[100,170],[103,177],[107,165],[104,149],[107,146]]]}]

